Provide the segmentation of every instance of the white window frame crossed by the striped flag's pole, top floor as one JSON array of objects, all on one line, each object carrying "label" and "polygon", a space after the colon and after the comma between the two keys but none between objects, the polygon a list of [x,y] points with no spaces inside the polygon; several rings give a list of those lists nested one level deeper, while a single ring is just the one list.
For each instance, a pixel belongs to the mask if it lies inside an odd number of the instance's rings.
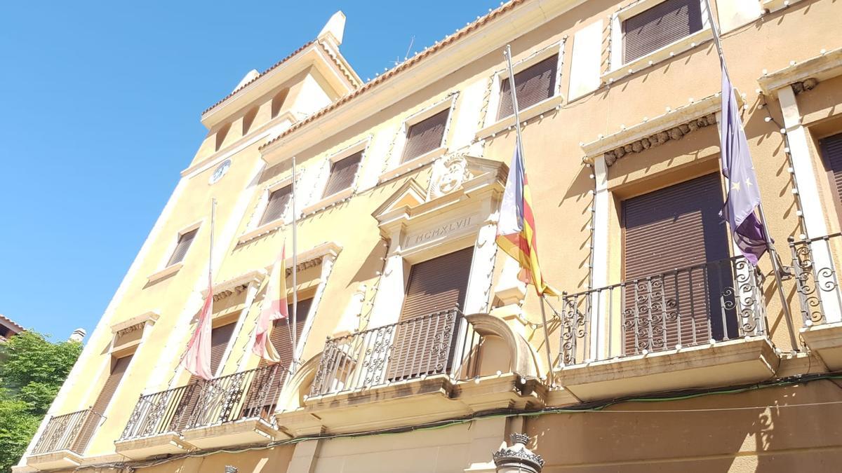
[{"label": "white window frame crossed by the striped flag's pole, top floor", "polygon": [[[557,55],[555,90],[552,91],[552,95],[550,97],[541,100],[541,102],[532,104],[525,109],[519,109],[518,114],[520,115],[521,123],[526,120],[530,120],[537,115],[549,112],[552,109],[561,106],[564,102],[565,97],[562,94],[562,70],[564,67],[564,45],[566,43],[567,36],[562,38],[562,40],[552,43],[552,45],[530,51],[528,54],[525,53],[526,56],[521,57],[512,64],[514,74],[517,74],[518,72],[523,72],[530,66],[535,66],[537,63],[544,61],[548,57]],[[485,120],[482,130],[477,131],[477,140],[483,140],[489,136],[497,134],[500,131],[506,130],[511,126],[514,126],[514,113],[497,120],[497,113],[500,108],[500,86],[502,85],[504,79],[508,78],[508,67],[501,67],[492,73],[489,81],[489,87],[491,90],[488,94],[488,105],[486,106]]]}]

